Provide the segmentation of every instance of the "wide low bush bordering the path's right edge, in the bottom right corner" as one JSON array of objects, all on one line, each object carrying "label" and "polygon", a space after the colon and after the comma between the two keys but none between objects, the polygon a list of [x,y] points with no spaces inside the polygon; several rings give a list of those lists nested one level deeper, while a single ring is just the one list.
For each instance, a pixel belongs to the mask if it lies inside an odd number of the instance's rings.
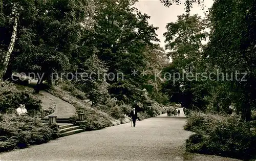
[{"label": "wide low bush bordering the path's right edge, in the bottom right corner", "polygon": [[196,132],[186,140],[188,152],[244,160],[256,152],[256,134],[237,116],[192,112],[184,128]]}]

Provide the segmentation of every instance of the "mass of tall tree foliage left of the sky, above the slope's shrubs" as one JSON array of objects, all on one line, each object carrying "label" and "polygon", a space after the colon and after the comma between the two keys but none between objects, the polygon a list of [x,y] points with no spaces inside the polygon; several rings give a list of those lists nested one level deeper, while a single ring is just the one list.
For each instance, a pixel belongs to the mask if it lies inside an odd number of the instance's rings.
[{"label": "mass of tall tree foliage left of the sky, above the slope's shrubs", "polygon": [[[148,24],[150,16],[133,7],[136,2],[3,1],[1,13],[5,18],[0,29],[6,36],[1,37],[1,52],[9,51],[13,31],[16,40],[7,71],[0,73],[4,79],[13,72],[35,73],[41,80],[37,92],[43,80],[51,85],[57,83],[53,80],[69,79],[84,93],[77,97],[89,98],[95,107],[106,106],[105,102],[112,98],[118,104],[137,101],[142,104],[140,110],[153,100],[167,104],[167,96],[161,91],[163,82],[154,78],[155,71],[168,64],[166,54],[153,43],[159,41],[158,28]],[[15,7],[17,15],[10,13]],[[12,31],[15,16],[19,20]],[[137,75],[132,75],[133,70],[138,71]],[[143,89],[148,93],[146,99]]]}]

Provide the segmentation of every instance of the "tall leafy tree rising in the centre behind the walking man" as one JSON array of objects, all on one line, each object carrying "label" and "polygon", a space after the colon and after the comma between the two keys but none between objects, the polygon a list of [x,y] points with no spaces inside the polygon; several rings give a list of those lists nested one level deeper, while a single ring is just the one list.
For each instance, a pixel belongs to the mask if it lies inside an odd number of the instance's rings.
[{"label": "tall leafy tree rising in the centre behind the walking man", "polygon": [[119,100],[138,100],[144,82],[141,75],[133,76],[132,71],[143,71],[146,66],[144,52],[151,41],[157,39],[157,28],[148,24],[150,16],[132,7],[137,1],[96,1],[94,33],[91,35],[98,57],[109,68],[109,73],[124,75],[124,81],[108,80],[110,93]]}]

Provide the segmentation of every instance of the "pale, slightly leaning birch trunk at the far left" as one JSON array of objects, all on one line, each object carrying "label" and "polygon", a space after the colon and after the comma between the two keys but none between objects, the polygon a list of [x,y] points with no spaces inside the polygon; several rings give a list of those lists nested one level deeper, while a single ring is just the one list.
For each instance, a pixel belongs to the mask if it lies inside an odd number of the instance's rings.
[{"label": "pale, slightly leaning birch trunk at the far left", "polygon": [[7,53],[3,57],[4,58],[4,63],[3,63],[2,71],[0,71],[0,79],[3,78],[3,76],[5,75],[5,73],[7,71],[7,67],[8,67],[8,64],[9,64],[9,60],[10,60],[10,57],[11,57],[11,53],[13,51],[13,47],[14,47],[15,40],[16,40],[16,35],[17,35],[17,26],[18,26],[18,18],[19,18],[19,13],[17,12],[17,6],[15,6],[15,5],[13,6],[12,13],[14,14],[12,37],[11,37],[11,42],[9,44]]}]

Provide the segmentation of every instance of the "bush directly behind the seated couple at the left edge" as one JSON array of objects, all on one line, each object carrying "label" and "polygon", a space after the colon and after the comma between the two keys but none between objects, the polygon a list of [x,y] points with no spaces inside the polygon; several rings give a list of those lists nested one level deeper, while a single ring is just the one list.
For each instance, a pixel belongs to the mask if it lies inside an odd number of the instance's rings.
[{"label": "bush directly behind the seated couple at the left edge", "polygon": [[27,91],[20,91],[13,83],[0,82],[0,112],[16,109],[19,104],[25,104],[27,110],[40,110],[41,100]]}]

